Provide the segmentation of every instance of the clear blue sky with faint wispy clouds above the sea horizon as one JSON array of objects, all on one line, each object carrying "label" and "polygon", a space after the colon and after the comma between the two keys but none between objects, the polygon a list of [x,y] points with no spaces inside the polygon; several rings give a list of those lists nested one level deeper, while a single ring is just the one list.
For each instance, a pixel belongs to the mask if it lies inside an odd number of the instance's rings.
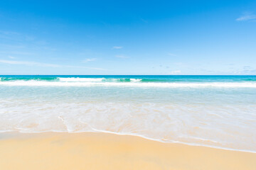
[{"label": "clear blue sky with faint wispy clouds above the sea horizon", "polygon": [[0,74],[256,74],[256,1],[0,1]]}]

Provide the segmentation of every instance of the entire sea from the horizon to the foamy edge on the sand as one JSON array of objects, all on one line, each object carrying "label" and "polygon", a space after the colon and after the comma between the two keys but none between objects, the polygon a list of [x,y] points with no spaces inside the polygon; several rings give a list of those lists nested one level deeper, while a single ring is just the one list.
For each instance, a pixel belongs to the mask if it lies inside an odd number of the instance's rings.
[{"label": "entire sea from the horizon to the foamy edge on the sand", "polygon": [[0,77],[0,132],[113,132],[256,152],[256,76]]}]

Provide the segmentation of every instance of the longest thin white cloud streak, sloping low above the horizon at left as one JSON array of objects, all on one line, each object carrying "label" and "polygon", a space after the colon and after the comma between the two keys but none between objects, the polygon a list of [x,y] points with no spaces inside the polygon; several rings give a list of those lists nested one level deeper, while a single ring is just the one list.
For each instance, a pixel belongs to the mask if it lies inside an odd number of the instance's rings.
[{"label": "longest thin white cloud streak, sloping low above the horizon at left", "polygon": [[28,62],[28,61],[14,61],[14,60],[0,60],[0,63],[20,64],[20,65],[38,66],[38,67],[68,67],[68,68],[107,70],[107,69],[102,69],[97,67],[80,67],[80,66],[72,66],[72,65],[59,65],[59,64],[48,64],[43,62]]}]

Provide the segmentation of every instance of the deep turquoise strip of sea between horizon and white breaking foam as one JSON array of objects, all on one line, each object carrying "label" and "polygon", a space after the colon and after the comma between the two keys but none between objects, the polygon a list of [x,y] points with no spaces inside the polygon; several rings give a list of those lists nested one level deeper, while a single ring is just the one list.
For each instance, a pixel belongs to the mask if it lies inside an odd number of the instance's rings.
[{"label": "deep turquoise strip of sea between horizon and white breaking foam", "polygon": [[[1,76],[1,81],[60,81],[62,78],[75,79],[102,79],[102,81],[120,82],[253,82],[256,76]],[[82,80],[81,80],[82,81]]]}]

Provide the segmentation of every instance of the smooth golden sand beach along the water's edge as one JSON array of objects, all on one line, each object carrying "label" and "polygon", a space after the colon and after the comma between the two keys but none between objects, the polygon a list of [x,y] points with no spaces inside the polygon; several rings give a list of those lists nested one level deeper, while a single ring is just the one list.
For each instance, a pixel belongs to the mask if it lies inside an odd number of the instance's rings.
[{"label": "smooth golden sand beach along the water's edge", "polygon": [[0,136],[0,169],[256,169],[256,154],[104,133]]}]

